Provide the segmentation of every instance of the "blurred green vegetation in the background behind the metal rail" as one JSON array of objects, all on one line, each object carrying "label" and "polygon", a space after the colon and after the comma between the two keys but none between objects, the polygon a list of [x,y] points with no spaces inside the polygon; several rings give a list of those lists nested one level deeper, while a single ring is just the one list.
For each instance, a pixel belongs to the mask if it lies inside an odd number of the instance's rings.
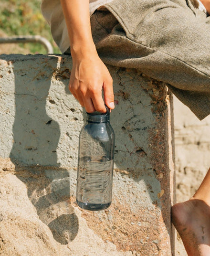
[{"label": "blurred green vegetation in the background behind the metal rail", "polygon": [[[41,35],[52,43],[54,53],[61,53],[42,16],[40,4],[41,0],[0,0],[0,31],[8,36]],[[46,53],[40,43],[22,43],[19,46],[30,53]]]}]

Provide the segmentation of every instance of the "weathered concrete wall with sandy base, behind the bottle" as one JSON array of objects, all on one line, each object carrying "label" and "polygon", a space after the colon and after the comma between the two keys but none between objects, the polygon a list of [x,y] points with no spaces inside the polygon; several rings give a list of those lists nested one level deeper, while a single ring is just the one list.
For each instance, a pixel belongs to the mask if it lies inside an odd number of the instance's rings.
[{"label": "weathered concrete wall with sandy base, behind the bottle", "polygon": [[70,57],[0,56],[0,255],[174,255],[173,118],[163,83],[109,66],[114,80],[113,203],[75,203],[84,112]]}]

